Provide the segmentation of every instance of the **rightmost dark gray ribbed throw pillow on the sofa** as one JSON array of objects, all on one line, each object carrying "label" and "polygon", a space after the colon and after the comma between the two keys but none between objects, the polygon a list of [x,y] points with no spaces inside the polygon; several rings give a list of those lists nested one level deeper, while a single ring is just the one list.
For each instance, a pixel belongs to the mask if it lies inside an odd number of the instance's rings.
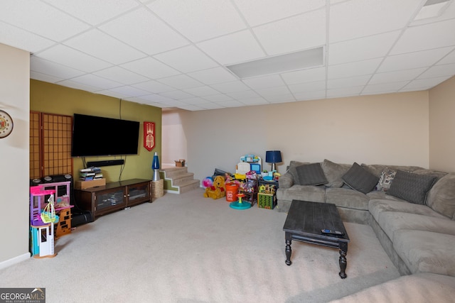
[{"label": "rightmost dark gray ribbed throw pillow on the sofa", "polygon": [[414,204],[425,204],[429,189],[432,188],[435,176],[417,175],[412,172],[397,170],[390,189],[386,194]]}]

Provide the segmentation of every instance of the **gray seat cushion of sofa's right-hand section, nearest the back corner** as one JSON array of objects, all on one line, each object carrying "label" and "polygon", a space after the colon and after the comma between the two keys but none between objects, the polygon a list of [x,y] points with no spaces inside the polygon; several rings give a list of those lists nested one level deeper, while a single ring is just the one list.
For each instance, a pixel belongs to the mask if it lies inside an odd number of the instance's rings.
[{"label": "gray seat cushion of sofa's right-hand section, nearest the back corner", "polygon": [[371,199],[370,202],[368,202],[368,210],[378,223],[380,214],[383,211],[400,211],[408,214],[421,214],[424,216],[434,216],[436,218],[446,219],[445,216],[430,209],[426,205],[412,204],[391,199]]}]

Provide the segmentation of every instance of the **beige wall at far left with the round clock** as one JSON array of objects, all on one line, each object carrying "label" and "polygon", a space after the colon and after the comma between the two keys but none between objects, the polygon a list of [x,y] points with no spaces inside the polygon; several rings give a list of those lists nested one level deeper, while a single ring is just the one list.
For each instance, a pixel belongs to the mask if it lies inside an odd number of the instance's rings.
[{"label": "beige wall at far left with the round clock", "polygon": [[30,257],[28,253],[28,125],[30,54],[0,44],[0,109],[14,121],[0,139],[0,269]]}]

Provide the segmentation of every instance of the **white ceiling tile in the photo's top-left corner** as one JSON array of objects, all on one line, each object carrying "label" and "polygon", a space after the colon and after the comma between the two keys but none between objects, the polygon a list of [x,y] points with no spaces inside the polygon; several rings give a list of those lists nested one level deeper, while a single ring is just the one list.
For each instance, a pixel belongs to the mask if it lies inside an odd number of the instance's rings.
[{"label": "white ceiling tile in the photo's top-left corner", "polygon": [[55,41],[89,28],[86,23],[41,1],[2,0],[0,20]]}]

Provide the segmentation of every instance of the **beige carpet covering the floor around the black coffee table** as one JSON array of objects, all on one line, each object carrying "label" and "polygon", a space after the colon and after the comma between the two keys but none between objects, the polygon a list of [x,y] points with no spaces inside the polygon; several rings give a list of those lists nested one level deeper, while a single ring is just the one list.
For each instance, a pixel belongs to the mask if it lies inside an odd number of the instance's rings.
[{"label": "beige carpet covering the floor around the black coffee table", "polygon": [[286,214],[230,209],[203,189],[165,194],[55,241],[55,258],[0,271],[0,287],[45,287],[47,302],[328,302],[399,277],[370,226],[346,224],[348,277],[338,251],[294,241]]}]

